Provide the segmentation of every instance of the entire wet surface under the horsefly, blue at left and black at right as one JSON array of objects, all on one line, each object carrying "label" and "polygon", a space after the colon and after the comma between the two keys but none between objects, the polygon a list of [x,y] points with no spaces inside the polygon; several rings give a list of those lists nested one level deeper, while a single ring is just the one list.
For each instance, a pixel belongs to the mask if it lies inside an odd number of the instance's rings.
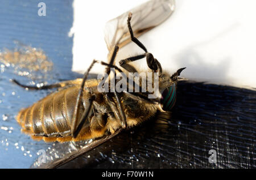
[{"label": "entire wet surface under the horsefly, blue at left and black at right", "polygon": [[[35,72],[34,79],[30,71],[21,76],[15,66],[0,63],[0,168],[42,167],[44,164],[34,164],[41,149],[50,164],[86,144],[35,142],[20,132],[15,121],[21,108],[52,91],[26,91],[10,79],[32,85],[81,76],[71,71],[72,38],[67,35],[73,22],[72,1],[44,2],[52,7],[46,17],[37,15],[39,1],[6,0],[0,6],[1,52],[19,48],[14,43],[18,40],[42,49],[53,63],[46,76]],[[123,131],[61,168],[256,168],[255,89],[180,82],[177,91],[171,118],[151,119]],[[209,162],[210,149],[216,150],[216,164]]]}]

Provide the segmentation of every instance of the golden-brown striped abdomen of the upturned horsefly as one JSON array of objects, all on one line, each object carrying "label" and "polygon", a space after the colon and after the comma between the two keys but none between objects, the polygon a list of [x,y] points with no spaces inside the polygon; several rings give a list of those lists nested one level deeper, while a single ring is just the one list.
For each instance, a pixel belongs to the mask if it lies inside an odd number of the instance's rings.
[{"label": "golden-brown striped abdomen of the upturned horsefly", "polygon": [[[71,120],[78,92],[78,86],[62,89],[21,110],[17,121],[22,131],[38,140],[74,140],[70,135]],[[81,105],[80,115],[83,111],[84,106]]]}]

